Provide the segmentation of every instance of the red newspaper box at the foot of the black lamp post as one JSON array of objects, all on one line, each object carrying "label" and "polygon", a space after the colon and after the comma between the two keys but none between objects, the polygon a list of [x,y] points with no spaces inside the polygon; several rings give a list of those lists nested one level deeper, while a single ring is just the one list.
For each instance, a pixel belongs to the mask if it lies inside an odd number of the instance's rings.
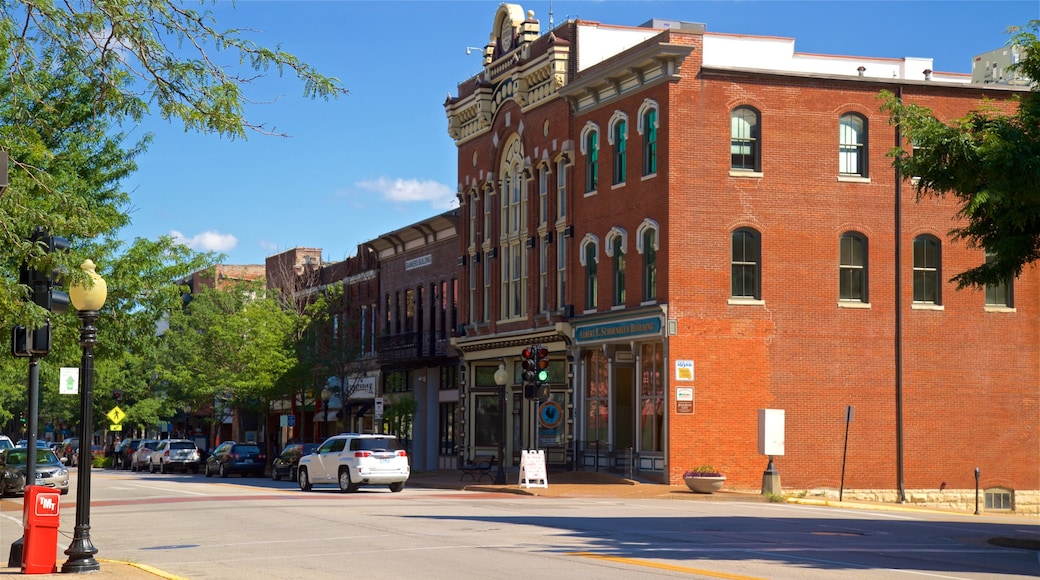
[{"label": "red newspaper box at the foot of the black lamp post", "polygon": [[22,522],[22,574],[57,572],[58,500],[61,493],[46,485],[26,485]]}]

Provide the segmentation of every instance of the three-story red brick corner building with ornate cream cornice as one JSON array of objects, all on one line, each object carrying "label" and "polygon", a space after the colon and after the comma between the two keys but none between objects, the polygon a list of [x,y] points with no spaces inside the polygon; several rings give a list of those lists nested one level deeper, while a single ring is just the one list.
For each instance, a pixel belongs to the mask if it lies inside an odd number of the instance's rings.
[{"label": "three-story red brick corner building with ornate cream cornice", "polygon": [[[784,491],[966,506],[979,468],[989,508],[1037,511],[1037,273],[946,282],[986,257],[948,237],[954,203],[896,179],[879,100],[952,120],[1024,88],[693,23],[539,26],[499,6],[445,103],[460,454],[672,483],[710,464],[758,489],[773,410]],[[534,343],[544,402],[520,378]]]}]

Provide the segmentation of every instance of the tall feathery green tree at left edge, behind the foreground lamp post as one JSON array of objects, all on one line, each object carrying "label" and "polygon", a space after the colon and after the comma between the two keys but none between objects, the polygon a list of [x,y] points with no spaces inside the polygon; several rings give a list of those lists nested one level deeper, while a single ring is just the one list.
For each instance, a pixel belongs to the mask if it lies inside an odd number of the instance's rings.
[{"label": "tall feathery green tree at left edge, behind the foreground lamp post", "polygon": [[[0,0],[0,57],[7,67],[0,76],[0,150],[10,158],[9,170],[0,167],[10,182],[0,192],[0,319],[36,327],[47,314],[18,284],[22,264],[58,268],[74,281],[83,258],[92,258],[110,291],[98,323],[97,384],[127,392],[128,422],[151,424],[163,413],[151,393],[154,323],[179,306],[176,281],[216,257],[168,238],[119,241],[131,210],[120,183],[150,140],[127,142],[120,127],[155,114],[219,137],[272,134],[244,114],[242,87],[258,76],[288,72],[309,98],[346,91],[292,54],[258,46],[241,29],[217,28],[208,11],[174,0]],[[29,243],[37,226],[68,238],[73,251],[46,255]],[[74,314],[54,315],[52,324],[42,387],[56,385],[58,367],[78,365]],[[0,358],[0,425],[25,407],[25,375],[24,361]],[[58,419],[74,413],[71,397],[53,397],[48,412]],[[103,417],[100,406],[95,411]]]}]

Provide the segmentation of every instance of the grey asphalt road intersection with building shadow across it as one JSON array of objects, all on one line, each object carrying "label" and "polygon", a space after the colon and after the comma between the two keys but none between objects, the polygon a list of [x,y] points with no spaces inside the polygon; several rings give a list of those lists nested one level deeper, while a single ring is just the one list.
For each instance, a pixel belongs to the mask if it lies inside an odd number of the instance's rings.
[{"label": "grey asphalt road intersection with building shadow across it", "polygon": [[[414,486],[303,493],[269,479],[111,471],[95,471],[92,482],[97,557],[179,578],[1040,576],[1036,551],[987,543],[1035,533],[1038,522],[1024,517]],[[75,493],[62,499],[59,568]],[[21,535],[21,500],[3,503],[6,554]]]}]

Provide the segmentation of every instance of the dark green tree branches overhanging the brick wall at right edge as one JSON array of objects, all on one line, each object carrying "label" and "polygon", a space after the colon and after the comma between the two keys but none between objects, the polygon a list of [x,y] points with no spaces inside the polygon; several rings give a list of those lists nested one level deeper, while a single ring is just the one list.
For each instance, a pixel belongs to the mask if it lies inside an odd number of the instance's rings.
[{"label": "dark green tree branches overhanging the brick wall at right edge", "polygon": [[[1025,49],[1015,70],[1040,79],[1040,21],[1017,30],[1011,45]],[[989,261],[953,276],[958,287],[1007,282],[1040,258],[1040,87],[1015,102],[988,102],[965,116],[943,123],[926,107],[882,93],[883,110],[912,149],[889,153],[918,199],[953,195],[965,225],[951,234],[969,247],[985,249]]]}]

